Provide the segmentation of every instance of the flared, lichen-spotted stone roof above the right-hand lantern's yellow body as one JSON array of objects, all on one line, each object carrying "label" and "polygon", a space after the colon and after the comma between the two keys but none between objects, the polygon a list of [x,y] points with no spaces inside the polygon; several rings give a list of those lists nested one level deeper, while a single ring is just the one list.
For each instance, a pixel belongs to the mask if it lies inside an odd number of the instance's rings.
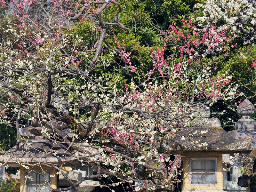
[{"label": "flared, lichen-spotted stone roof above the right-hand lantern's yellow body", "polygon": [[[195,132],[197,133],[194,134]],[[177,132],[172,140],[160,139],[160,146],[162,151],[176,154],[181,151],[222,151],[228,153],[246,150],[251,139],[252,137],[236,139],[221,127],[190,127]]]}]

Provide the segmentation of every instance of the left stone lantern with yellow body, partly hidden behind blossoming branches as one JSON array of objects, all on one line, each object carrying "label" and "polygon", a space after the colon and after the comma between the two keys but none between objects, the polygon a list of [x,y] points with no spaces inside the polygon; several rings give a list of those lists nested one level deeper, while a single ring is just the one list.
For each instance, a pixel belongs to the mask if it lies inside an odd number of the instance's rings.
[{"label": "left stone lantern with yellow body, partly hidden behind blossoming branches", "polygon": [[[31,126],[20,129],[23,140],[19,148],[14,150],[17,147],[15,146],[12,148],[14,152],[0,155],[2,165],[20,167],[20,192],[50,192],[51,188],[67,188],[73,185],[67,178],[77,182],[93,174],[90,166],[77,160],[77,151],[71,151],[64,144],[44,139],[40,135],[41,131],[41,127]],[[67,131],[67,137],[70,134]],[[61,169],[61,173],[56,167]],[[99,181],[84,180],[68,192],[89,192],[99,184]]]}]

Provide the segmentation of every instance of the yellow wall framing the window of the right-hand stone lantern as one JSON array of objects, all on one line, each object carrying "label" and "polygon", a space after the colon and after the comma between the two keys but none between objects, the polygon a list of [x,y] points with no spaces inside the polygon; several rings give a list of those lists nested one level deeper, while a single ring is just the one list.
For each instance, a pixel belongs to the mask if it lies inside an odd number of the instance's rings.
[{"label": "yellow wall framing the window of the right-hand stone lantern", "polygon": [[[223,176],[222,176],[222,153],[221,152],[183,152],[181,154],[183,159],[183,185],[182,191],[187,190],[223,190]],[[217,184],[200,184],[194,185],[189,182],[189,158],[190,157],[217,157]]]}]

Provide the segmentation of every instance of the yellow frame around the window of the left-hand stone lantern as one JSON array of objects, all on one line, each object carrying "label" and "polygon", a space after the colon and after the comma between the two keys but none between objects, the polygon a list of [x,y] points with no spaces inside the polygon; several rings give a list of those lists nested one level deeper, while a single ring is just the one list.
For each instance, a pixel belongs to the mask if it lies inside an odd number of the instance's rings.
[{"label": "yellow frame around the window of the left-hand stone lantern", "polygon": [[53,167],[48,167],[48,166],[29,166],[29,169],[25,169],[24,167],[20,166],[20,192],[26,192],[25,188],[25,171],[51,171],[52,175],[55,175],[55,177],[51,177],[51,186],[53,189],[57,189],[57,170],[54,169]]}]

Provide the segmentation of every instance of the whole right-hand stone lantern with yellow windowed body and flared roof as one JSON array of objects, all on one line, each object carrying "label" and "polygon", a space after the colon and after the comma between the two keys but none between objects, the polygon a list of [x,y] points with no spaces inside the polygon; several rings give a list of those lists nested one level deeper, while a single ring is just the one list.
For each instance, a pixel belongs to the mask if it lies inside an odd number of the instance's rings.
[{"label": "whole right-hand stone lantern with yellow windowed body and flared roof", "polygon": [[196,109],[191,127],[160,139],[160,148],[182,157],[182,192],[224,192],[222,154],[247,150],[252,136],[236,138],[220,127],[218,119],[209,119],[209,109],[200,103]]}]

